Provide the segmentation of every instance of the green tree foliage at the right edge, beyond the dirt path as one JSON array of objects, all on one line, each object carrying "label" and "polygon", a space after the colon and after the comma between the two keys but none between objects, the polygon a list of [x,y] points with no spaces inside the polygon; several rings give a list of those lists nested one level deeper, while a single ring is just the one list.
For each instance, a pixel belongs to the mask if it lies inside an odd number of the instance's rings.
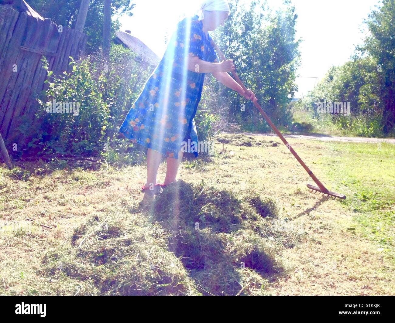
[{"label": "green tree foliage at the right edge, beyond the dirt path", "polygon": [[351,115],[331,115],[343,131],[361,136],[395,133],[395,0],[383,0],[366,21],[369,36],[349,62],[329,69],[325,78],[298,105],[316,118],[323,100],[350,102]]}]

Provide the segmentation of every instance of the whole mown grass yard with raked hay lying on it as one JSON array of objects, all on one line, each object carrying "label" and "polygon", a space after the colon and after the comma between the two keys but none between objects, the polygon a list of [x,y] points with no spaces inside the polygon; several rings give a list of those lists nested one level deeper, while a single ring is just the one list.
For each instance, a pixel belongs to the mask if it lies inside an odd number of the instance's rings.
[{"label": "whole mown grass yard with raked hay lying on it", "polygon": [[219,140],[154,199],[144,165],[0,168],[0,293],[395,295],[394,145],[289,140],[342,201],[278,139]]}]

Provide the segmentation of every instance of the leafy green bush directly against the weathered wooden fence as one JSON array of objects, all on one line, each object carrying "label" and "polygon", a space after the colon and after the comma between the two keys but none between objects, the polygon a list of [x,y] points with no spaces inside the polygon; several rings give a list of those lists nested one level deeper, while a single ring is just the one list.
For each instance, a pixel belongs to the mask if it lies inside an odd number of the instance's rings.
[{"label": "leafy green bush directly against the weathered wooden fence", "polygon": [[[44,68],[48,70],[45,59]],[[41,109],[36,116],[42,126],[36,138],[28,144],[38,154],[84,155],[97,152],[105,143],[105,130],[109,125],[109,105],[103,100],[104,84],[92,74],[90,57],[73,64],[73,73],[66,73],[49,83],[46,101],[38,100]],[[52,72],[48,71],[51,76]],[[47,113],[47,102],[71,102],[79,105],[74,113]],[[60,112],[62,108],[60,107]]]}]

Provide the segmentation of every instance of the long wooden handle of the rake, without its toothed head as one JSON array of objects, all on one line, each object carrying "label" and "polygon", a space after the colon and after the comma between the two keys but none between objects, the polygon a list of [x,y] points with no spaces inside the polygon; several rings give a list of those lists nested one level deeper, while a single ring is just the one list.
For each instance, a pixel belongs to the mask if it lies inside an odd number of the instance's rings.
[{"label": "long wooden handle of the rake, without its toothed head", "polygon": [[[216,45],[216,43],[213,41],[213,39],[211,39],[211,44],[214,46],[214,48],[216,49],[218,55],[220,56],[220,58],[222,60],[226,60],[224,54],[222,54],[222,51],[220,50],[220,48]],[[244,86],[243,82],[241,81],[241,79],[239,78],[239,76],[236,74],[236,72],[232,72],[233,77],[235,78],[236,82],[239,83],[239,85],[243,88],[243,90],[245,92],[247,92],[247,88]],[[259,112],[261,113],[261,115],[263,115],[263,118],[265,118],[265,120],[267,121],[267,123],[271,126],[271,128],[273,129],[273,131],[278,135],[278,137],[280,137],[280,139],[282,140],[282,142],[284,143],[284,145],[287,146],[288,150],[290,150],[290,152],[292,152],[293,156],[297,159],[297,161],[303,166],[303,168],[305,169],[305,171],[307,171],[308,175],[310,175],[310,177],[314,180],[314,182],[318,185],[318,187],[323,191],[323,192],[327,192],[328,190],[325,188],[324,184],[322,184],[320,182],[320,180],[318,180],[318,178],[313,174],[313,172],[307,167],[307,165],[303,162],[303,160],[299,157],[299,155],[295,152],[295,150],[293,150],[292,146],[288,143],[288,141],[286,141],[286,139],[284,138],[284,136],[281,134],[281,132],[277,129],[277,127],[273,124],[273,122],[270,120],[269,116],[265,113],[265,111],[263,111],[262,107],[259,105],[259,103],[257,101],[253,101],[255,107],[259,110]]]}]

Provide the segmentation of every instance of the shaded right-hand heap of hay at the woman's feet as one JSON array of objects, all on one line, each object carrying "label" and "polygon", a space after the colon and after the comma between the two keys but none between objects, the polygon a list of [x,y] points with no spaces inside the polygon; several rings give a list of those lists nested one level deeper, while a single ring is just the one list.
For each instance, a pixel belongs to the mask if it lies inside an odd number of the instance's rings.
[{"label": "shaded right-hand heap of hay at the woman's feet", "polygon": [[168,187],[152,207],[152,217],[169,232],[169,250],[203,295],[236,295],[242,288],[260,295],[266,278],[281,271],[265,219],[275,215],[275,205],[258,196],[240,198],[182,181]]}]

